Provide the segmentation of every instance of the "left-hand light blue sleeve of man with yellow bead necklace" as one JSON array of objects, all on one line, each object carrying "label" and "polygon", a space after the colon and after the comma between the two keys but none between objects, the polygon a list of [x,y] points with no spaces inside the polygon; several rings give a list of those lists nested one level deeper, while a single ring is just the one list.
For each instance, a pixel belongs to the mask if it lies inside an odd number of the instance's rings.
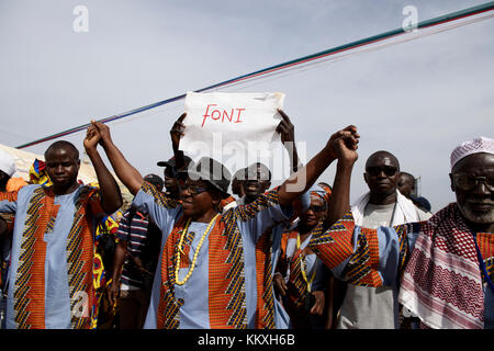
[{"label": "left-hand light blue sleeve of man with yellow bead necklace", "polygon": [[141,213],[149,214],[149,218],[160,228],[175,218],[179,203],[159,192],[153,184],[144,182],[132,206]]}]

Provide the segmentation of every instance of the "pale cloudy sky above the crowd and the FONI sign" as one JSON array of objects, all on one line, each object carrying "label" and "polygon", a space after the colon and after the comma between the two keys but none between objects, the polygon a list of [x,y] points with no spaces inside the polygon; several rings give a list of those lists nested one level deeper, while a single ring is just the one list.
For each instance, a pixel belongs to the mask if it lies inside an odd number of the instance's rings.
[{"label": "pale cloudy sky above the crowd and the FONI sign", "polygon": [[[485,3],[473,0],[0,0],[1,141],[15,147],[244,73]],[[88,10],[76,32],[74,9]],[[449,155],[494,137],[494,19],[233,87],[281,91],[308,159],[348,124],[361,134],[351,199],[363,165],[389,150],[422,179],[437,211],[454,200]],[[183,100],[110,124],[143,174],[171,156],[169,129]],[[82,151],[83,133],[66,137]],[[43,154],[43,143],[27,151]],[[333,183],[335,165],[322,180]]]}]

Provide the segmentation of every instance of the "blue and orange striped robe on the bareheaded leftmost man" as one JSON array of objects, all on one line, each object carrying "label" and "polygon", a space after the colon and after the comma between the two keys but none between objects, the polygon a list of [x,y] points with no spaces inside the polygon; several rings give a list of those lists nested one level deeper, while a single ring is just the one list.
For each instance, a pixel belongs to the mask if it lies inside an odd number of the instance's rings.
[{"label": "blue and orange striped robe on the bareheaded leftmost man", "polygon": [[90,328],[94,228],[104,215],[98,189],[55,196],[27,185],[0,193],[0,212],[15,213],[7,327]]}]

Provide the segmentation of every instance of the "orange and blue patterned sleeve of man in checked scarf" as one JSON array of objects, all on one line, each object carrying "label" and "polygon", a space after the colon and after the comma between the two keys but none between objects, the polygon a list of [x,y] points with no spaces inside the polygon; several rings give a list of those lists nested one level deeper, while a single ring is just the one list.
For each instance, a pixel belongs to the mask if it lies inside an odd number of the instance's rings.
[{"label": "orange and blue patterned sleeve of man in checked scarf", "polygon": [[347,283],[394,285],[408,257],[413,225],[360,228],[349,212],[328,230],[314,233],[308,247]]}]

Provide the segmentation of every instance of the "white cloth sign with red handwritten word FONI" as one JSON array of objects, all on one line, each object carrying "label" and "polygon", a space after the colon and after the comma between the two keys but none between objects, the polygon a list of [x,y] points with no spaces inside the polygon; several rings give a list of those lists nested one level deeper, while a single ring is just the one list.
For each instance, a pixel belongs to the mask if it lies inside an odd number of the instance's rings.
[{"label": "white cloth sign with red handwritten word FONI", "polygon": [[195,93],[186,97],[187,117],[180,149],[194,161],[211,157],[232,172],[270,157],[284,94]]}]

